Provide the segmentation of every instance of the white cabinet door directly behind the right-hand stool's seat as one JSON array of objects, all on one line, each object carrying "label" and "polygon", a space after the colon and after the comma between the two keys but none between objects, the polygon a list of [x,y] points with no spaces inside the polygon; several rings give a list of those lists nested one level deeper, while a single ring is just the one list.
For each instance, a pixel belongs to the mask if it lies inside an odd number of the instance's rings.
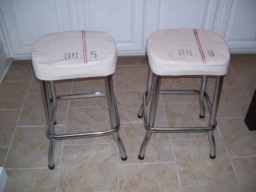
[{"label": "white cabinet door directly behind the right-hand stool's seat", "polygon": [[153,0],[151,29],[212,30],[218,0]]}]

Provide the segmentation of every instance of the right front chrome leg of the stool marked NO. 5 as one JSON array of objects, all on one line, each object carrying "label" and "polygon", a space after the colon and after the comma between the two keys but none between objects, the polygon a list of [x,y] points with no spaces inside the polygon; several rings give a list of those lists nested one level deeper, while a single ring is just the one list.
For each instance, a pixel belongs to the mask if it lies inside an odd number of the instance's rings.
[{"label": "right front chrome leg of the stool marked NO. 5", "polygon": [[[119,130],[119,115],[118,115],[116,99],[115,99],[114,90],[113,90],[112,75],[108,75],[107,77],[105,77],[105,86],[106,86],[106,92],[107,92],[111,128],[113,129],[113,127],[118,127],[118,130]],[[125,146],[122,143],[122,140],[118,132],[113,133],[113,138],[116,141],[116,144],[119,148],[121,159],[126,160],[127,155],[125,153]]]}]

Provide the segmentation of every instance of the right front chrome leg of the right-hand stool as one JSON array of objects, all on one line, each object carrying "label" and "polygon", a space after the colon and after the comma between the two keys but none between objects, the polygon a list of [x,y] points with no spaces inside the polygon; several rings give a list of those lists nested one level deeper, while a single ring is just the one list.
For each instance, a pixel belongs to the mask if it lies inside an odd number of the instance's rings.
[{"label": "right front chrome leg of the right-hand stool", "polygon": [[[216,124],[216,115],[218,110],[218,103],[221,96],[221,88],[223,83],[224,75],[217,76],[216,77],[216,83],[215,83],[215,89],[214,89],[214,95],[213,95],[213,102],[212,102],[212,112],[210,115],[209,120],[209,127],[215,127]],[[215,144],[215,138],[213,134],[213,130],[208,132],[208,138],[210,142],[210,158],[214,159],[216,157],[216,144]]]}]

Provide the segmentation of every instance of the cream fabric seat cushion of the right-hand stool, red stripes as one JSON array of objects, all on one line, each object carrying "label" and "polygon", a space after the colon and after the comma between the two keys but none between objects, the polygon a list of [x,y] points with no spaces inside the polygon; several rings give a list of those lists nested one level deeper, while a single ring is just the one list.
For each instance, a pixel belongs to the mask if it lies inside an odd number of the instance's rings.
[{"label": "cream fabric seat cushion of the right-hand stool, red stripes", "polygon": [[167,29],[151,33],[148,62],[157,75],[224,75],[230,53],[216,33],[199,29]]}]

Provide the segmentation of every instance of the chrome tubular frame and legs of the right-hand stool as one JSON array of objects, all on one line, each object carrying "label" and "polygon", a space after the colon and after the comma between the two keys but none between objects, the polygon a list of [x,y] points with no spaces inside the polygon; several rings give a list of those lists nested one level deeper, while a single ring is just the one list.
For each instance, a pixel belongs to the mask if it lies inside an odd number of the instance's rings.
[{"label": "chrome tubular frame and legs of the right-hand stool", "polygon": [[[153,80],[154,79],[154,80]],[[161,75],[156,75],[149,68],[148,70],[148,83],[146,91],[143,94],[143,103],[140,106],[138,117],[143,118],[144,127],[147,130],[143,143],[140,147],[140,153],[138,158],[140,160],[144,159],[145,150],[148,145],[148,142],[151,138],[152,133],[163,133],[163,132],[208,132],[208,138],[210,143],[210,158],[214,159],[216,157],[216,144],[214,138],[214,130],[216,129],[216,115],[218,110],[218,103],[221,95],[221,88],[223,83],[224,75],[216,76],[215,88],[213,101],[209,99],[209,95],[205,92],[206,84],[207,84],[207,75],[203,75],[201,80],[201,88],[200,90],[160,90],[161,84]],[[154,85],[153,84],[154,81]],[[152,89],[153,87],[153,89]],[[200,106],[200,118],[204,118],[205,113],[205,104],[204,99],[206,100],[207,107],[209,109],[210,117],[208,127],[158,127],[154,128],[154,120],[157,111],[157,101],[159,94],[190,94],[190,95],[199,95],[199,106]],[[147,105],[150,101],[150,97],[152,95],[151,100],[151,108],[149,113],[149,118],[147,117]]]}]

